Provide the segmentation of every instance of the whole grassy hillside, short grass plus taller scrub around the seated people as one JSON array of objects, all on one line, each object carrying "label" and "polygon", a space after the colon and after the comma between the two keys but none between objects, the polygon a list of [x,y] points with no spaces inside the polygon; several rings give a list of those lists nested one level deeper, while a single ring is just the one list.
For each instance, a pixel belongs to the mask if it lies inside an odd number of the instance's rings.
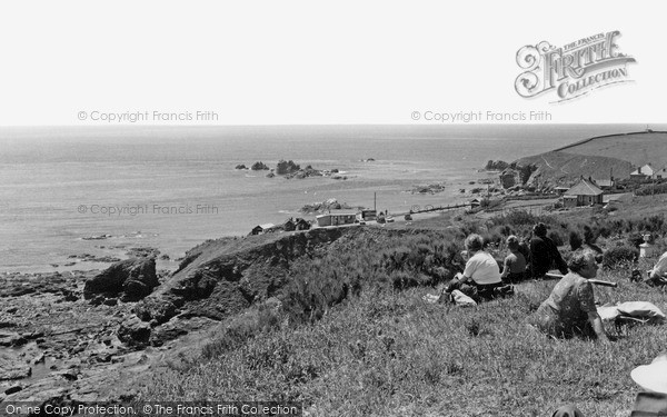
[{"label": "whole grassy hillside, short grass plus taller scrub around the seated people", "polygon": [[[609,326],[619,337],[610,345],[549,339],[526,319],[555,281],[520,284],[514,298],[467,309],[421,297],[460,268],[457,254],[471,231],[522,234],[541,220],[564,236],[590,226],[605,247],[640,230],[665,236],[664,217],[636,216],[621,208],[571,219],[512,214],[454,227],[442,217],[450,227],[440,231],[360,228],[292,262],[280,302],[226,320],[199,354],[151,375],[142,396],[296,400],[310,416],[548,416],[566,403],[588,417],[627,416],[638,391],[629,373],[664,350],[664,326]],[[661,291],[628,276],[627,266],[603,270],[599,277],[619,288],[597,287],[597,300],[647,300],[667,311]]]}]

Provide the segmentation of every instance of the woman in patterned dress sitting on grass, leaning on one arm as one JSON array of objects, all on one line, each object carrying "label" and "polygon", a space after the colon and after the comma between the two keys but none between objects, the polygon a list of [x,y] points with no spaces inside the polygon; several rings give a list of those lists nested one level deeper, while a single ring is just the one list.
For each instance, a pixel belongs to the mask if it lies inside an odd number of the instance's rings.
[{"label": "woman in patterned dress sitting on grass, leaning on one arm", "polygon": [[568,267],[570,272],[556,284],[549,298],[539,306],[530,321],[554,337],[581,335],[608,341],[603,319],[595,306],[593,284],[588,281],[597,275],[595,252],[574,252]]}]

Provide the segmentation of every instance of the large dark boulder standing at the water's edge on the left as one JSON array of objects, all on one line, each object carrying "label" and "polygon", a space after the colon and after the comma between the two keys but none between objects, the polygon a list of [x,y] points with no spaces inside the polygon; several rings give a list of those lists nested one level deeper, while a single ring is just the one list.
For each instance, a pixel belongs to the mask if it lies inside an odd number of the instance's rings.
[{"label": "large dark boulder standing at the water's edge on the left", "polygon": [[113,264],[107,270],[88,280],[83,297],[96,295],[119,297],[123,300],[139,300],[148,296],[160,282],[156,275],[155,258],[133,258]]}]

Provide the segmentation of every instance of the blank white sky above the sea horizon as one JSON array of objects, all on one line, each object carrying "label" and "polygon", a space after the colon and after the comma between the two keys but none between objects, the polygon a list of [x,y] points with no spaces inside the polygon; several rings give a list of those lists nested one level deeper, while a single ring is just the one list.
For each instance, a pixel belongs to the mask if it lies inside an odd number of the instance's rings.
[{"label": "blank white sky above the sea horizon", "polygon": [[[2,2],[0,126],[664,123],[661,11],[658,1]],[[522,47],[613,31],[615,51],[636,61],[626,82],[560,102],[554,90],[517,93]]]}]

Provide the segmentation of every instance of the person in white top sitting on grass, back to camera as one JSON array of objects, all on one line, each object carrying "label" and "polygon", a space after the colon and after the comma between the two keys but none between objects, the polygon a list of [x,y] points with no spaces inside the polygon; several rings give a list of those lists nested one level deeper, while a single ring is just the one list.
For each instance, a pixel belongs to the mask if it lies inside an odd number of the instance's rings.
[{"label": "person in white top sitting on grass, back to camera", "polygon": [[464,274],[457,274],[444,292],[449,294],[458,289],[476,301],[480,298],[494,298],[494,289],[502,286],[498,262],[489,252],[484,250],[481,236],[477,234],[468,236],[465,245],[468,261]]}]

